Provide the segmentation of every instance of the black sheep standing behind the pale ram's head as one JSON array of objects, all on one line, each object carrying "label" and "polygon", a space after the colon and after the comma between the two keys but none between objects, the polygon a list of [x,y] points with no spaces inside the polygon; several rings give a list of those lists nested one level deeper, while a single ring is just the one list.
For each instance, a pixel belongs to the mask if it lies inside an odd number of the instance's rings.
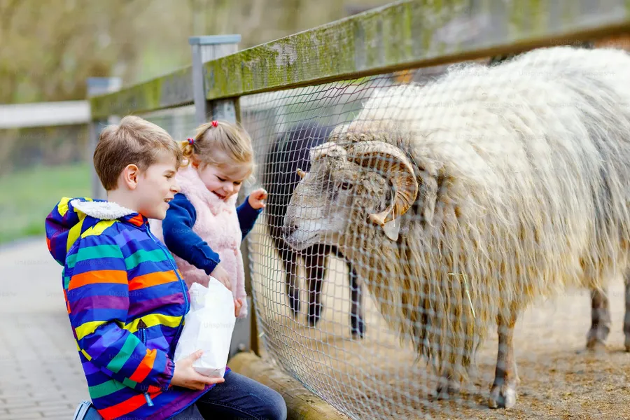
[{"label": "black sheep standing behind the pale ram's head", "polygon": [[[281,235],[284,215],[293,189],[300,182],[297,169],[308,171],[310,167],[309,150],[322,144],[333,127],[325,127],[316,123],[297,123],[290,130],[276,137],[276,142],[269,149],[262,183],[269,193],[265,214],[269,235],[274,247],[278,250],[286,274],[286,293],[293,315],[300,311],[300,290],[295,282],[297,277],[297,258],[301,258],[307,272],[309,288],[309,325],[317,325],[321,316],[321,287],[328,266],[328,255],[333,253],[344,258],[335,246],[316,244],[300,253],[289,248]],[[357,284],[356,270],[346,260],[349,269],[351,288],[350,325],[353,337],[363,338],[365,324],[363,322],[363,304],[361,290]]]}]

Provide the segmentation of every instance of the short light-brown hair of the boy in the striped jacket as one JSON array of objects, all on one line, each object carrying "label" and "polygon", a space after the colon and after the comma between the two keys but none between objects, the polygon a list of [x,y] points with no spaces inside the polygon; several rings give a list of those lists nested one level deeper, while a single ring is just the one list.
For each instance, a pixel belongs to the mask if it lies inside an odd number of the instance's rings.
[{"label": "short light-brown hair of the boy in the striped jacket", "polygon": [[116,190],[118,176],[127,165],[145,171],[163,152],[172,154],[176,167],[181,165],[181,148],[166,130],[143,118],[126,116],[120,124],[108,125],[101,132],[94,150],[94,169],[105,190]]}]

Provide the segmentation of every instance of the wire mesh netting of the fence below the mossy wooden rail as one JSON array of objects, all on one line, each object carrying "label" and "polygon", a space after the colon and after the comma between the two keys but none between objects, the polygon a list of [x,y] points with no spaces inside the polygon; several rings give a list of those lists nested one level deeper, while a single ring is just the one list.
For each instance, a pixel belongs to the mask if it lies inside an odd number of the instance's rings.
[{"label": "wire mesh netting of the fence below the mossy wooden rail", "polygon": [[[488,405],[512,405],[514,390],[519,418],[605,414],[600,386],[623,398],[622,356],[581,350],[600,280],[607,343],[622,347],[623,246],[589,223],[626,221],[584,204],[610,203],[575,162],[612,159],[619,145],[593,130],[630,129],[611,90],[628,80],[607,63],[623,57],[581,51],[241,97],[248,188],[269,192],[249,237],[265,357],[353,419],[504,418]],[[611,97],[625,108],[603,115]],[[381,228],[369,215],[392,202],[405,213]],[[608,239],[605,271],[594,259]]]}]

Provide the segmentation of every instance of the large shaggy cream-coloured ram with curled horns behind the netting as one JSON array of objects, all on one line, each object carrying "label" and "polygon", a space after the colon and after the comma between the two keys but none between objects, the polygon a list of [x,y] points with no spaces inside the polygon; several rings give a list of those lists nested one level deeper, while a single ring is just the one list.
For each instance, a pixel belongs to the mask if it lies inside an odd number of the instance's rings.
[{"label": "large shaggy cream-coloured ram with curled horns behind the netting", "polygon": [[377,92],[311,151],[286,242],[338,246],[439,395],[497,323],[489,406],[512,407],[519,314],[628,269],[629,68],[621,50],[541,48]]}]

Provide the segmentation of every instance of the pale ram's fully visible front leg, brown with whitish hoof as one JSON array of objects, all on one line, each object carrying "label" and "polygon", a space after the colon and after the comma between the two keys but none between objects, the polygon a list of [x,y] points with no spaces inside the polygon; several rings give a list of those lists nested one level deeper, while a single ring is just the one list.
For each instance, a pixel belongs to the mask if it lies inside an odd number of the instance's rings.
[{"label": "pale ram's fully visible front leg, brown with whitish hoof", "polygon": [[519,384],[516,360],[514,360],[514,324],[517,314],[512,311],[510,318],[497,317],[498,352],[494,383],[490,390],[490,408],[510,408],[516,404],[516,387]]}]

